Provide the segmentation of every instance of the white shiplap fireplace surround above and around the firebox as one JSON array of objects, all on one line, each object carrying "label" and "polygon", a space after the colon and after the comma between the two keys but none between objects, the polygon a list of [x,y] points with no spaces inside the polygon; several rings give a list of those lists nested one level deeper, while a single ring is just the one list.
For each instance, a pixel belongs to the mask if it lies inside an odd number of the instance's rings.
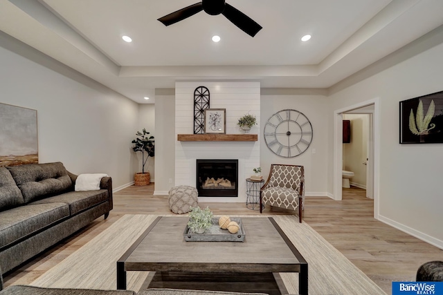
[{"label": "white shiplap fireplace surround above and around the firebox", "polygon": [[[250,113],[257,125],[250,133],[257,142],[180,142],[178,134],[194,133],[194,91],[205,86],[210,108],[226,108],[226,134],[242,134],[239,117]],[[199,197],[199,202],[245,202],[246,178],[260,166],[260,82],[176,82],[175,84],[175,185],[196,186],[197,159],[238,159],[238,197]]]}]

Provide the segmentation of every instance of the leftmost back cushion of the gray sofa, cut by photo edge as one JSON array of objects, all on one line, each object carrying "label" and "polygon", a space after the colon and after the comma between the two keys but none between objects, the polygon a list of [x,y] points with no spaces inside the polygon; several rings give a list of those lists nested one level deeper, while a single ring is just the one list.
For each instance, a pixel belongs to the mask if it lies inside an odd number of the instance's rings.
[{"label": "leftmost back cushion of the gray sofa, cut by photo edge", "polygon": [[0,211],[23,203],[23,196],[11,173],[5,167],[0,167]]}]

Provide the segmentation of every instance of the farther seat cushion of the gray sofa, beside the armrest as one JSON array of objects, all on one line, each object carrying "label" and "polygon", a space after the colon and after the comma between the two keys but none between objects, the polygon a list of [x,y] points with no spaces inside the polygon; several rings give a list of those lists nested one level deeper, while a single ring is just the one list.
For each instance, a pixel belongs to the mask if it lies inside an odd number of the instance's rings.
[{"label": "farther seat cushion of the gray sofa, beside the armrest", "polygon": [[100,191],[69,191],[30,204],[66,203],[69,204],[69,211],[71,215],[73,215],[85,209],[89,209],[96,204],[105,202],[108,198],[107,189],[100,189]]}]

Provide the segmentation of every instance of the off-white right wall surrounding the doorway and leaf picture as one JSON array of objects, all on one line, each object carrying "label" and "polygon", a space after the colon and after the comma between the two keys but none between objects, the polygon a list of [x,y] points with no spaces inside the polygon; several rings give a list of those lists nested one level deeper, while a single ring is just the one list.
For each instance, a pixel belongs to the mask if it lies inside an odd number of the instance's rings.
[{"label": "off-white right wall surrounding the doorway and leaf picture", "polygon": [[[426,42],[431,44],[426,49]],[[379,97],[379,220],[443,248],[443,144],[399,144],[399,102],[443,91],[443,29],[432,32],[383,64],[368,68],[361,82],[329,96],[329,113]],[[439,45],[435,45],[439,44]],[[399,62],[398,64],[396,64]],[[380,73],[374,69],[385,66]],[[343,82],[345,84],[347,82]],[[329,117],[329,134],[334,118]],[[329,136],[329,144],[333,137]],[[334,177],[329,157],[329,180]],[[333,191],[332,187],[330,188]]]}]

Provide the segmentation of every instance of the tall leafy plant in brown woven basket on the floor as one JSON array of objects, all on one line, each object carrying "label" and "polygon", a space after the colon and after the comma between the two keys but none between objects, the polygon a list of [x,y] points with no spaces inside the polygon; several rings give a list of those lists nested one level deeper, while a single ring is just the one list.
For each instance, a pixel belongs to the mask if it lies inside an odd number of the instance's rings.
[{"label": "tall leafy plant in brown woven basket on the floor", "polygon": [[144,128],[142,132],[137,131],[136,135],[137,138],[132,140],[134,144],[132,150],[135,152],[141,151],[142,171],[135,174],[135,185],[147,185],[151,183],[151,176],[149,171],[145,172],[145,164],[147,159],[154,157],[154,136],[150,135]]}]

